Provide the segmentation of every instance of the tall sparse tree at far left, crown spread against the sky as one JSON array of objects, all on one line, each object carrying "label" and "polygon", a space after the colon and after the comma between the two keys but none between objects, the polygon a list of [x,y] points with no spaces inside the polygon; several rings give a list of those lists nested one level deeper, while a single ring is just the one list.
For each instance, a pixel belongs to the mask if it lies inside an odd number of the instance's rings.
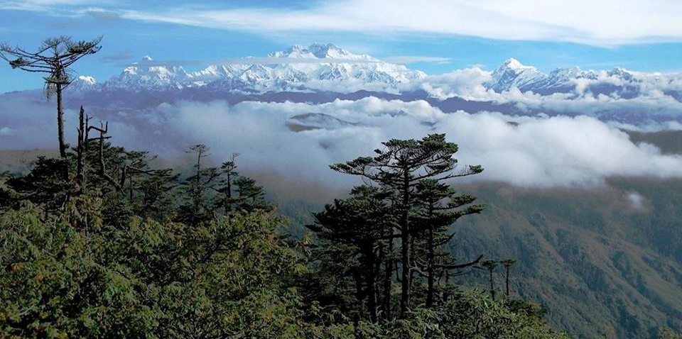
[{"label": "tall sparse tree at far left, crown spread against the sky", "polygon": [[45,73],[45,94],[57,95],[57,130],[59,154],[66,157],[68,145],[64,136],[64,109],[62,91],[73,81],[70,67],[85,55],[99,52],[102,37],[93,40],[73,41],[70,37],[60,36],[43,41],[36,52],[28,52],[7,43],[0,45],[0,57],[9,62],[12,68],[27,72]]}]

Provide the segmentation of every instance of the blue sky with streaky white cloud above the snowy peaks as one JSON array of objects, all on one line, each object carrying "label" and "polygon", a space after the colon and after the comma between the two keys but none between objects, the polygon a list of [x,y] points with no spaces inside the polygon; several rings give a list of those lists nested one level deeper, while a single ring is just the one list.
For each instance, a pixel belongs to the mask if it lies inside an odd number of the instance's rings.
[{"label": "blue sky with streaky white cloud above the snowy peaks", "polygon": [[[0,0],[0,18],[0,42],[29,50],[56,35],[103,35],[102,50],[75,65],[99,82],[144,55],[197,61],[191,70],[310,43],[430,74],[493,70],[509,57],[545,72],[682,71],[675,0]],[[0,65],[0,92],[40,87],[39,75]]]}]

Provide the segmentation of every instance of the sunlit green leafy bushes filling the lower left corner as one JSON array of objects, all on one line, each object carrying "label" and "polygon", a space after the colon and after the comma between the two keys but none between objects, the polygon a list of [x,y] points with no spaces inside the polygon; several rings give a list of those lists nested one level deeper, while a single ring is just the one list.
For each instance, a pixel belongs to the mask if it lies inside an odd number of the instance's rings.
[{"label": "sunlit green leafy bushes filling the lower left corner", "polygon": [[[0,218],[0,336],[278,338],[300,331],[299,255],[271,213],[205,227],[102,225],[97,201],[60,218],[30,204]],[[77,228],[75,225],[85,225]]]}]

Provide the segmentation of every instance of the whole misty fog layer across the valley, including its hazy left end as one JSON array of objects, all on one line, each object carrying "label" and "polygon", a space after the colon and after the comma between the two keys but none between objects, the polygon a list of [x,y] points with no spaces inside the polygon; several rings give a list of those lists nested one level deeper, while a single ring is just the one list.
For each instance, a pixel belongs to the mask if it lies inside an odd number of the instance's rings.
[{"label": "whole misty fog layer across the valley, including its hazy left end", "polygon": [[[53,148],[53,104],[38,93],[4,94],[0,149]],[[458,143],[460,164],[485,168],[473,180],[570,187],[600,184],[610,176],[682,177],[681,156],[633,143],[617,128],[622,124],[590,116],[443,113],[426,101],[374,97],[326,104],[176,101],[140,111],[86,111],[94,116],[92,123],[109,121],[116,145],[173,159],[182,157],[189,145],[205,143],[216,163],[239,152],[243,168],[327,184],[355,182],[328,165],[372,155],[391,138],[428,133],[446,133]],[[76,117],[74,110],[67,111],[71,135]]]}]

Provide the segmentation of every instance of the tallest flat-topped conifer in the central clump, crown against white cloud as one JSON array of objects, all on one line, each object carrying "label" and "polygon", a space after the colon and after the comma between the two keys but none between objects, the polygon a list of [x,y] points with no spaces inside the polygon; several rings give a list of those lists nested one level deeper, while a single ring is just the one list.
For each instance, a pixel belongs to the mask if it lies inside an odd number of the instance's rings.
[{"label": "tallest flat-topped conifer in the central clump, crown against white cloud", "polygon": [[411,237],[414,230],[410,211],[415,201],[416,186],[423,179],[438,181],[478,174],[480,166],[467,166],[455,173],[457,160],[453,157],[458,147],[445,141],[444,134],[431,134],[422,140],[392,139],[383,143],[383,150],[374,150],[374,157],[331,165],[332,170],[365,177],[396,191],[398,229],[401,235],[401,313],[410,307],[412,258]]}]

